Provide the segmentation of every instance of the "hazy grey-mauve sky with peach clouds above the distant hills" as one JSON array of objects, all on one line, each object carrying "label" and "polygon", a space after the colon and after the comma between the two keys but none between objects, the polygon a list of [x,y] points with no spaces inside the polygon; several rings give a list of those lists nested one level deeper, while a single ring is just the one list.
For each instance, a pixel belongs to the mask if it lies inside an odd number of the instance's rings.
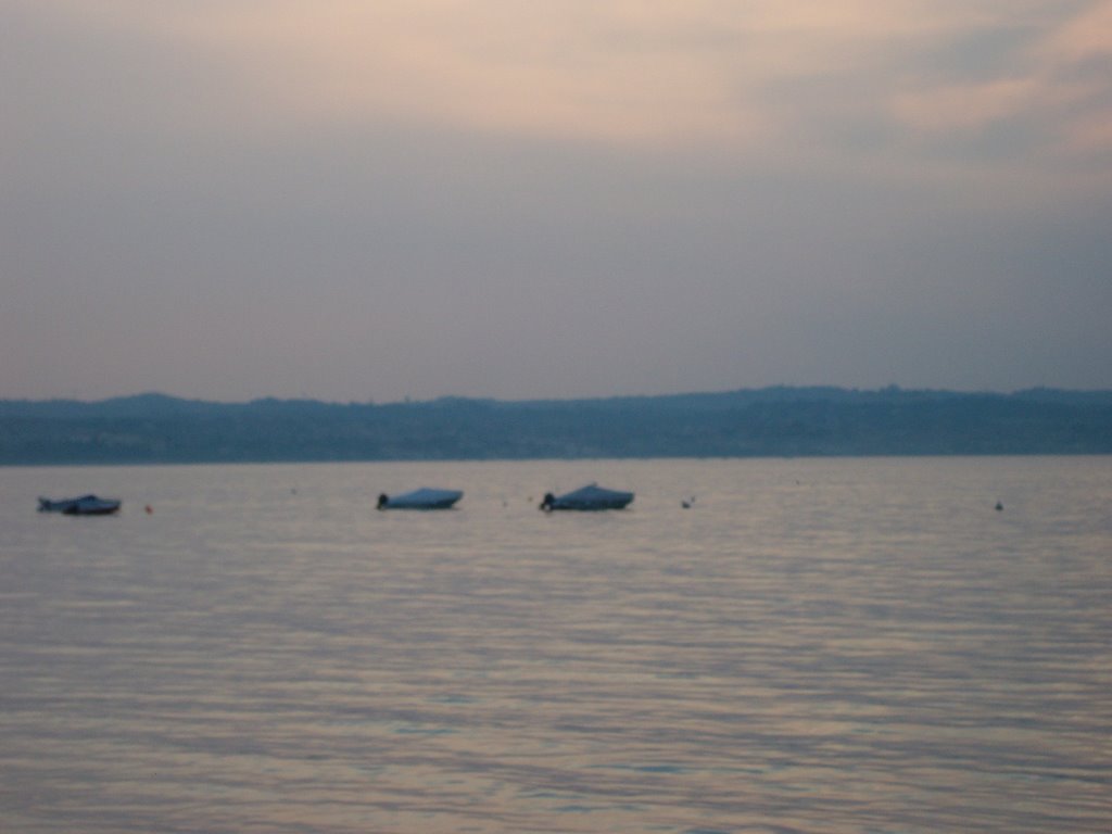
[{"label": "hazy grey-mauve sky with peach clouds above the distant hills", "polygon": [[0,399],[1112,388],[1112,0],[0,0]]}]

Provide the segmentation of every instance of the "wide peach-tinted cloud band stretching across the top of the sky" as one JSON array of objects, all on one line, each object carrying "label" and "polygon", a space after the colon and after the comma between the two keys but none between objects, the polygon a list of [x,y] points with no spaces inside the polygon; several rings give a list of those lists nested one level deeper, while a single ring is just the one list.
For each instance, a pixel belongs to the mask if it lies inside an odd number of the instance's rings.
[{"label": "wide peach-tinted cloud band stretching across the top of the sky", "polygon": [[[80,32],[93,70],[133,56],[132,75],[110,80],[152,130],[268,141],[400,127],[765,161],[872,155],[901,135],[902,150],[946,147],[1009,120],[1061,119],[1062,101],[1073,103],[1061,140],[1048,143],[1092,148],[1109,73],[1075,70],[1112,40],[1106,0],[48,7],[24,13]],[[985,56],[991,66],[955,75]]]}]

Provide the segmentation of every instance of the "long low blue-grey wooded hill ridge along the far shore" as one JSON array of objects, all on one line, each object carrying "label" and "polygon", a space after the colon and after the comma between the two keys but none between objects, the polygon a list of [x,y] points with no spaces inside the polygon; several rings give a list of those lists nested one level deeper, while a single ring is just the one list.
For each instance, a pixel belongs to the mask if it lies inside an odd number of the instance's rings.
[{"label": "long low blue-grey wooded hill ridge along the far shore", "polygon": [[1112,391],[774,387],[502,401],[0,400],[0,465],[1112,454]]}]

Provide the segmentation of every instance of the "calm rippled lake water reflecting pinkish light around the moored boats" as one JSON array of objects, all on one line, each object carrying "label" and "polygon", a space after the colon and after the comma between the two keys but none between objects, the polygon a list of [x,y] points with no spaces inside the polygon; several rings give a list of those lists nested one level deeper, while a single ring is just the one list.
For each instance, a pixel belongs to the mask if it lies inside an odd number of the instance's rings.
[{"label": "calm rippled lake water reflecting pinkish light around the moored boats", "polygon": [[1112,831],[1112,458],[8,468],[0,536],[3,832]]}]

